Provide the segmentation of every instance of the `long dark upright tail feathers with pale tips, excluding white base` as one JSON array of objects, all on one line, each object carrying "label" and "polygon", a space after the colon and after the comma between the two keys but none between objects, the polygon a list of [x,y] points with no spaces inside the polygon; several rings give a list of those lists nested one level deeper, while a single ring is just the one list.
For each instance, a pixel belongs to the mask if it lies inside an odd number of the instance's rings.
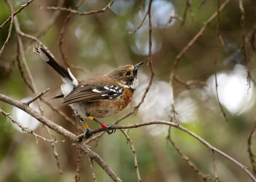
[{"label": "long dark upright tail feathers with pale tips, excluding white base", "polygon": [[63,78],[67,78],[73,81],[69,72],[62,67],[53,57],[41,47],[34,47],[33,52],[40,56],[49,66],[51,66],[56,72],[58,72]]}]

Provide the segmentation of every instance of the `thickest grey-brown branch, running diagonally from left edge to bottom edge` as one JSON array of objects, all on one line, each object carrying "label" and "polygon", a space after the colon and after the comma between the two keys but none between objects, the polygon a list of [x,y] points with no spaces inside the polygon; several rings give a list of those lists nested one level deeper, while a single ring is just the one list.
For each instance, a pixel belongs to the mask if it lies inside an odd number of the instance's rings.
[{"label": "thickest grey-brown branch, running diagonally from left edge to bottom edge", "polygon": [[48,126],[49,128],[51,128],[52,130],[56,131],[57,133],[65,136],[66,138],[69,138],[70,140],[72,140],[74,143],[76,143],[76,145],[78,145],[85,153],[86,155],[88,155],[90,158],[92,158],[93,160],[95,160],[95,162],[98,163],[98,165],[100,167],[102,167],[102,169],[111,177],[112,180],[114,180],[115,182],[121,182],[122,180],[120,180],[120,178],[112,171],[112,169],[110,169],[110,167],[102,160],[102,158],[95,152],[93,152],[90,147],[88,147],[87,145],[85,145],[83,142],[78,141],[77,140],[77,136],[74,133],[71,133],[70,131],[64,129],[63,127],[57,125],[56,123],[54,123],[53,121],[48,120],[46,117],[42,116],[40,113],[38,113],[36,110],[33,110],[32,108],[30,108],[29,106],[27,106],[27,104],[21,103],[15,99],[12,99],[8,96],[5,96],[3,94],[0,94],[0,100],[11,104],[23,111],[25,111],[26,113],[28,113],[29,115],[33,116],[34,118],[36,118],[38,121],[40,121],[41,123],[43,123],[44,125]]}]

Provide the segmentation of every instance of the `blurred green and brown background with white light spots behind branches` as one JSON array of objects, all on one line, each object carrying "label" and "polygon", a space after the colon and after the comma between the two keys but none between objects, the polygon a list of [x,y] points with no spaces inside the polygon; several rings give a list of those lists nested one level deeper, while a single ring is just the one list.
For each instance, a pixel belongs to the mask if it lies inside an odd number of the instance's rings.
[{"label": "blurred green and brown background with white light spots behind branches", "polygon": [[[186,89],[174,81],[173,89],[168,84],[170,67],[183,47],[193,38],[203,26],[203,23],[217,10],[217,2],[212,0],[192,0],[191,10],[186,15],[185,24],[174,19],[168,24],[170,16],[180,15],[186,7],[185,0],[153,0],[153,47],[152,60],[155,70],[153,85],[149,90],[144,103],[137,115],[129,116],[120,124],[137,123],[151,120],[170,120],[171,104],[176,108],[177,122],[201,136],[213,146],[231,155],[242,164],[250,167],[247,152],[247,139],[255,122],[256,91],[251,83],[247,84],[247,69],[244,55],[241,52],[242,32],[240,27],[241,13],[237,0],[231,0],[220,13],[220,34],[224,45],[219,44],[217,80],[220,103],[229,119],[225,121],[216,98],[214,78],[214,51],[216,36],[216,20],[214,20],[203,35],[186,52],[176,68],[176,74],[185,80],[198,79],[205,81],[206,86],[193,86]],[[221,0],[221,3],[224,1]],[[26,3],[25,0],[15,0],[15,10]],[[63,7],[74,8],[78,0],[65,0]],[[105,7],[109,1],[86,0],[78,9],[88,11]],[[64,33],[63,50],[67,60],[73,65],[84,67],[86,71],[72,69],[76,78],[105,74],[115,67],[125,64],[136,64],[147,61],[148,55],[148,20],[135,34],[134,30],[144,17],[148,0],[141,10],[138,8],[141,1],[115,0],[114,4],[104,13],[93,15],[73,15],[67,30]],[[21,30],[27,34],[37,35],[51,19],[54,11],[40,7],[57,6],[58,1],[36,0],[24,8],[17,15]],[[10,15],[7,5],[0,1],[0,23]],[[256,2],[244,0],[246,36],[253,29],[256,17]],[[58,38],[64,19],[68,12],[61,12],[52,27],[39,39],[44,42],[56,56],[58,62],[64,65],[61,59]],[[0,30],[0,45],[7,38],[8,23]],[[28,99],[33,96],[27,88],[16,61],[16,33],[12,32],[12,42],[9,42],[0,58],[0,93],[15,99]],[[31,45],[38,45],[29,39],[22,39],[26,51],[26,58],[39,91],[47,88],[51,90],[45,99],[54,96],[60,91],[61,79],[58,74],[47,66],[32,52]],[[246,44],[251,62],[249,67],[255,74],[255,51],[249,43]],[[139,87],[135,92],[131,106],[141,99],[144,89],[150,78],[150,69],[145,65],[139,72]],[[57,105],[60,101],[51,101]],[[40,135],[47,136],[42,125],[25,115],[22,111],[0,102],[0,107],[10,113],[23,126],[26,126]],[[32,107],[37,108],[36,103]],[[73,125],[63,120],[57,113],[43,104],[44,115],[64,128],[75,132]],[[74,117],[70,108],[59,108]],[[131,111],[127,108],[116,116],[102,119],[111,123],[120,116]],[[79,124],[79,122],[78,122]],[[96,123],[89,121],[90,128],[98,128]],[[53,133],[58,140],[63,136]],[[134,142],[137,153],[139,171],[143,181],[163,182],[192,182],[203,181],[188,166],[181,156],[167,142],[168,126],[149,126],[129,130],[129,136]],[[210,151],[200,142],[183,131],[173,128],[173,141],[190,157],[190,159],[205,174],[213,176],[212,158]],[[253,143],[254,144],[254,143]],[[137,181],[134,168],[134,158],[125,136],[116,131],[113,135],[103,135],[92,149],[116,172],[123,181]],[[38,140],[33,135],[22,133],[7,118],[0,116],[0,181],[32,182],[32,181],[75,181],[76,146],[69,140],[56,143],[59,153],[59,162],[63,174],[59,174],[56,160],[53,156],[51,144]],[[253,152],[256,148],[253,147]],[[221,181],[246,182],[251,181],[244,171],[216,154],[217,172]],[[81,181],[93,181],[88,157],[82,155]],[[94,163],[97,179],[100,182],[111,181],[110,177]]]}]

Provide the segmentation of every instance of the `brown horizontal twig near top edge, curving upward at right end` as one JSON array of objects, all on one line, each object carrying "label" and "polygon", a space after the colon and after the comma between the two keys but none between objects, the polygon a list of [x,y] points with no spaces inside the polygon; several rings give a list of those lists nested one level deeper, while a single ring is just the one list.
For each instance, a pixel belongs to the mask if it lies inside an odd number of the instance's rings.
[{"label": "brown horizontal twig near top edge, curving upward at right end", "polygon": [[72,10],[71,8],[63,8],[63,7],[41,7],[41,9],[47,9],[47,10],[62,10],[62,11],[67,11],[67,12],[71,12],[71,13],[75,13],[75,14],[79,14],[79,15],[90,15],[90,14],[94,14],[94,13],[102,13],[105,12],[106,10],[108,10],[110,8],[110,6],[113,4],[114,0],[111,0],[104,8],[99,9],[99,10],[91,10],[89,12],[80,12],[80,11],[76,11],[76,10]]}]

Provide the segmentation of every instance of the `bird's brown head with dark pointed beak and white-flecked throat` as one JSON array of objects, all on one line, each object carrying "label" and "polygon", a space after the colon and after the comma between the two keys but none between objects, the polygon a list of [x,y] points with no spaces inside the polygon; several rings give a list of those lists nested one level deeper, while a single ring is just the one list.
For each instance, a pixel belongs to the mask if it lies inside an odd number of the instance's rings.
[{"label": "bird's brown head with dark pointed beak and white-flecked throat", "polygon": [[139,62],[138,64],[133,65],[125,65],[120,66],[113,71],[109,72],[107,75],[119,83],[121,86],[125,88],[129,88],[131,90],[135,90],[138,85],[137,72],[139,67],[144,62]]}]

